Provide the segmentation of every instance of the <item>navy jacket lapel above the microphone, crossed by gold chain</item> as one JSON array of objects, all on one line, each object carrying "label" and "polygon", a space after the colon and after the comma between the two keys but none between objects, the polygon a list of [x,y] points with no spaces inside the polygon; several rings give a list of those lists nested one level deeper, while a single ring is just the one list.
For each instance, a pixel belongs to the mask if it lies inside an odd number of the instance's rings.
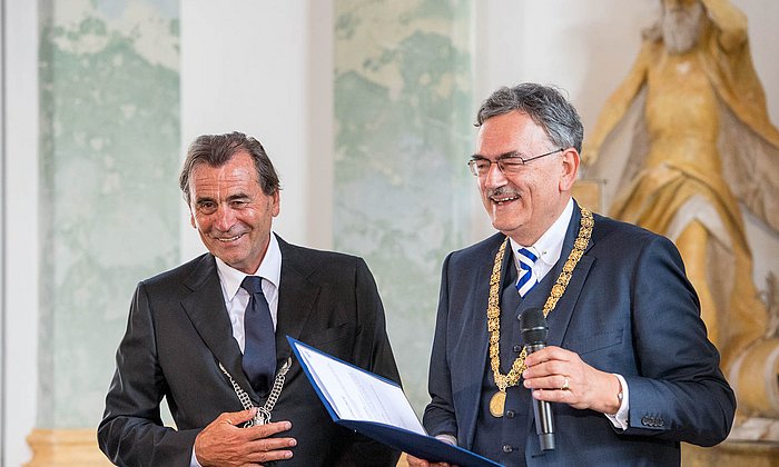
[{"label": "navy jacket lapel above the microphone, crossed by gold chain", "polygon": [[[579,205],[574,201],[573,216],[571,217],[571,223],[568,227],[568,231],[565,232],[565,240],[563,242],[563,249],[560,255],[560,260],[554,267],[555,280],[556,277],[560,276],[560,271],[562,271],[563,265],[568,260],[568,256],[571,254],[571,250],[573,250],[573,242],[575,241],[579,235],[581,218],[581,209],[579,208]],[[596,228],[598,226],[593,227],[593,229]],[[576,301],[579,300],[579,295],[581,294],[582,288],[584,287],[584,281],[586,279],[586,276],[590,274],[590,268],[592,267],[593,258],[586,255],[590,248],[592,248],[592,239],[590,239],[586,249],[584,250],[584,255],[579,260],[579,264],[576,265],[575,269],[573,270],[573,274],[571,275],[571,281],[568,284],[565,292],[560,298],[560,301],[558,301],[558,306],[549,315],[550,322],[548,344],[550,346],[560,346],[563,339],[565,338],[568,325],[571,321],[571,316],[573,315],[573,308],[576,305]]]}]

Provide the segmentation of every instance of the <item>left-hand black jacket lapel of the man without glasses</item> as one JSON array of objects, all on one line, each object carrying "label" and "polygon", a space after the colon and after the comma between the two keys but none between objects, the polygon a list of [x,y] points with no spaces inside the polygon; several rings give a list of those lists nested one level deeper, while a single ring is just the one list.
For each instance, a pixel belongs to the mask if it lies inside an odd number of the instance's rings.
[{"label": "left-hand black jacket lapel of the man without glasses", "polygon": [[204,255],[184,284],[193,290],[191,295],[181,300],[181,306],[193,326],[233,379],[247,393],[254,395],[241,367],[243,354],[238,342],[233,338],[233,325],[225,308],[214,257],[210,254]]}]

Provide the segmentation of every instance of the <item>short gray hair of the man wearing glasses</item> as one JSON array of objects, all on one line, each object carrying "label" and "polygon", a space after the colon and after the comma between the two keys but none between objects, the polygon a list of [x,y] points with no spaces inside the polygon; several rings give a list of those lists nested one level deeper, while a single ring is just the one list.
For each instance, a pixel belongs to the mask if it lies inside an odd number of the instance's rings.
[{"label": "short gray hair of the man wearing glasses", "polygon": [[513,88],[502,87],[490,95],[479,108],[476,127],[491,117],[520,111],[526,113],[559,148],[582,151],[584,127],[579,112],[551,86],[523,82]]}]

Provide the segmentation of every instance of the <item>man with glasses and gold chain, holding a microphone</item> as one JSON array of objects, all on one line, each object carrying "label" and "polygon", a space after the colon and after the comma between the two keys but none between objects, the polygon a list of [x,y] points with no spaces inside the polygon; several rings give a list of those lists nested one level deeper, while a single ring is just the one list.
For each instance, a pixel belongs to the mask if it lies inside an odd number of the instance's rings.
[{"label": "man with glasses and gold chain, holding a microphone", "polygon": [[[734,397],[676,247],[571,197],[576,110],[524,83],[476,121],[469,167],[500,232],[444,261],[427,431],[506,466],[679,465],[680,441],[722,441]],[[534,352],[519,320],[531,308],[549,326]],[[550,403],[553,449],[533,399]]]}]

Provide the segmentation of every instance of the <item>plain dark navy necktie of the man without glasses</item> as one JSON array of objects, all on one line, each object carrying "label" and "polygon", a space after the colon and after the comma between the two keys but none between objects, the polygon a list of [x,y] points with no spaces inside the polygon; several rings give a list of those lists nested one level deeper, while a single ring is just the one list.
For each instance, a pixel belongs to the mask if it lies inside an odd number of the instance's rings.
[{"label": "plain dark navy necktie of the man without glasses", "polygon": [[263,278],[246,276],[240,282],[249,292],[249,305],[244,314],[244,372],[259,394],[270,390],[276,372],[276,332],[270,307],[263,294]]}]

